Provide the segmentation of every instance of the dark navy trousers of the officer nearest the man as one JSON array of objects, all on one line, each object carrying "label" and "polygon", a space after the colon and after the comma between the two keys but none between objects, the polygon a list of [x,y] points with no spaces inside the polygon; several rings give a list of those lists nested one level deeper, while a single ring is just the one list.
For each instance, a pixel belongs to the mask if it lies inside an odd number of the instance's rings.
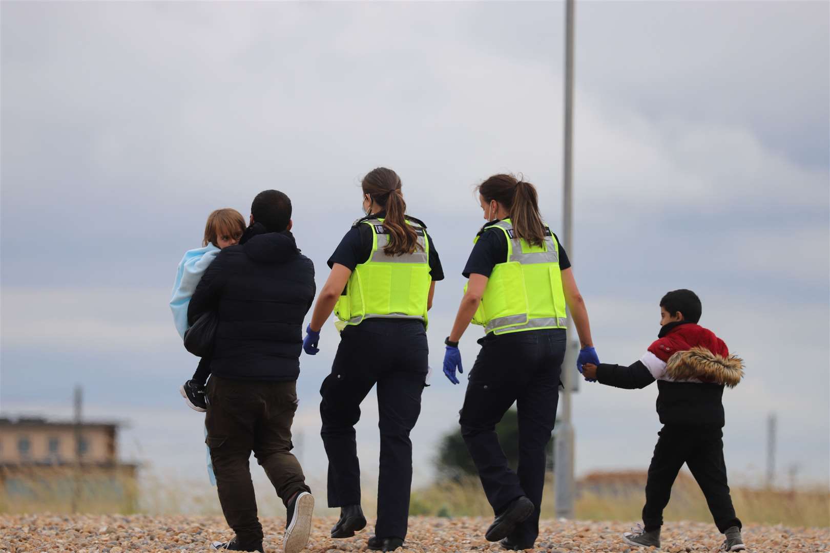
[{"label": "dark navy trousers of the officer nearest the man", "polygon": [[343,507],[360,502],[354,424],[360,420],[361,401],[378,386],[378,537],[407,536],[413,476],[409,432],[421,414],[428,353],[427,332],[420,321],[367,319],[344,328],[331,374],[320,387],[329,507]]}]

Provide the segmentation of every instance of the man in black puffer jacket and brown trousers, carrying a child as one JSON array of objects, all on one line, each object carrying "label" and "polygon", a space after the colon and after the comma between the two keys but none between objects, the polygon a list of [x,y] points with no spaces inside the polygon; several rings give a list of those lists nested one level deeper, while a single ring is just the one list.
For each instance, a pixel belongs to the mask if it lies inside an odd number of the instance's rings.
[{"label": "man in black puffer jacket and brown trousers, carrying a child", "polygon": [[214,547],[262,551],[251,451],[286,505],[286,553],[308,541],[314,497],[291,454],[302,324],[315,297],[314,265],[291,234],[291,200],[276,190],[251,204],[251,226],[199,280],[188,321],[215,311],[207,382],[207,446],[222,512],[236,536]]}]

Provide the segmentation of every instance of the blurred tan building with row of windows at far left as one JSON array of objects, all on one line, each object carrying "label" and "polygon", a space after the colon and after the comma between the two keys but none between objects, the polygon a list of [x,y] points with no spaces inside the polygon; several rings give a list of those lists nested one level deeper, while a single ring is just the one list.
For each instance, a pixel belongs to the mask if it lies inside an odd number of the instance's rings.
[{"label": "blurred tan building with row of windows at far left", "polygon": [[132,512],[134,463],[120,463],[116,423],[0,418],[0,512]]}]

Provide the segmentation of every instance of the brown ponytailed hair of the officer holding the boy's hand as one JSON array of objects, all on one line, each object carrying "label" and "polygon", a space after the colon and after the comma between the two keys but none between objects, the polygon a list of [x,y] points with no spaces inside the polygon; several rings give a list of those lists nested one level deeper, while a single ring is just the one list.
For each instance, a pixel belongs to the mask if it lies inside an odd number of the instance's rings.
[{"label": "brown ponytailed hair of the officer holding the boy's hand", "polygon": [[485,201],[498,201],[510,212],[510,221],[518,238],[530,245],[544,244],[544,223],[539,213],[539,196],[530,182],[516,180],[513,175],[493,175],[478,186]]}]

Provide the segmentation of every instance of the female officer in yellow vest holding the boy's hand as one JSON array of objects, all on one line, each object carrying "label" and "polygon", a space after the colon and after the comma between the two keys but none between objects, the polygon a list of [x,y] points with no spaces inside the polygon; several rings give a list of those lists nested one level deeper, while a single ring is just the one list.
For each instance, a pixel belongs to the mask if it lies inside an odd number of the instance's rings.
[{"label": "female officer in yellow vest holding the boy's hand", "polygon": [[[452,332],[444,373],[458,384],[458,341],[471,322],[484,327],[461,408],[461,435],[476,463],[496,519],[488,541],[505,549],[533,547],[539,535],[545,449],[554,429],[565,354],[565,304],[582,351],[593,362],[588,311],[568,255],[539,213],[536,189],[512,175],[478,187],[487,223],[476,236],[464,276],[469,279]],[[510,405],[519,412],[519,467],[507,466],[495,426]]]}]

